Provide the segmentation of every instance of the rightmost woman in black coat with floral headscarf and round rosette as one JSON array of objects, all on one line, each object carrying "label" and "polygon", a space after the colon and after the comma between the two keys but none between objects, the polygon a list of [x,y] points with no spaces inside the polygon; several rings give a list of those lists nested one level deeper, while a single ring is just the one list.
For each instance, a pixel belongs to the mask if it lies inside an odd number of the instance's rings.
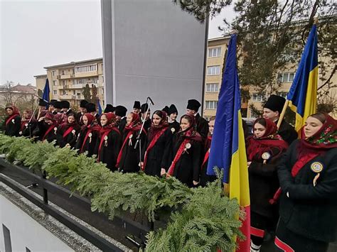
[{"label": "rightmost woman in black coat with floral headscarf and round rosette", "polygon": [[278,175],[277,251],[326,251],[336,239],[336,119],[321,113],[309,116],[301,139],[291,144],[279,163]]}]

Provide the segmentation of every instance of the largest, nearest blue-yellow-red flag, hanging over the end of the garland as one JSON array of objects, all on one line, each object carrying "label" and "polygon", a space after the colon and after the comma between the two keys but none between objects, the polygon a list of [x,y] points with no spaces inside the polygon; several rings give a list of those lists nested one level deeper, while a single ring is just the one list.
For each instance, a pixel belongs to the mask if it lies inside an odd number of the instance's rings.
[{"label": "largest, nearest blue-yellow-red flag, hanging over the end of the garland", "polygon": [[208,175],[214,175],[213,168],[224,170],[223,182],[230,198],[237,198],[245,209],[246,219],[241,231],[246,236],[238,251],[250,251],[250,190],[248,182],[245,136],[241,119],[240,83],[237,75],[237,35],[233,34],[228,45],[223,82],[219,93],[218,109],[210,146]]}]

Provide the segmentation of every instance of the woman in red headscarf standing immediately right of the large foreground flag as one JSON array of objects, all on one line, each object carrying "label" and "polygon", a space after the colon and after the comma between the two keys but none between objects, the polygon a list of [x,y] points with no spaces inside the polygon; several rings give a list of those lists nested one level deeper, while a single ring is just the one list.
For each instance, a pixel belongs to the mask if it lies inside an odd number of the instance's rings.
[{"label": "woman in red headscarf standing immediately right of the large foreground flag", "polygon": [[250,181],[250,251],[260,251],[264,234],[275,230],[279,214],[272,204],[279,188],[277,162],[288,148],[277,135],[277,126],[259,118],[253,124],[254,135],[247,138],[247,165]]}]

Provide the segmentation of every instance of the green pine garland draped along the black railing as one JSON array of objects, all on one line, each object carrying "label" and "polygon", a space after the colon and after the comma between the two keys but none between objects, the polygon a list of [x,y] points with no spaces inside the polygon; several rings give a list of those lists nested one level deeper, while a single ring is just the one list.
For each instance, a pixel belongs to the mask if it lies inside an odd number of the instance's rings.
[{"label": "green pine garland draped along the black railing", "polygon": [[[92,211],[112,219],[117,212],[141,212],[154,216],[171,210],[166,229],[147,235],[147,251],[232,251],[244,218],[237,200],[223,195],[220,179],[207,187],[191,189],[174,177],[159,178],[143,172],[111,172],[95,158],[53,143],[33,143],[27,138],[0,135],[0,153],[33,170],[46,170],[58,183],[91,198]],[[218,177],[221,177],[218,174]]]}]

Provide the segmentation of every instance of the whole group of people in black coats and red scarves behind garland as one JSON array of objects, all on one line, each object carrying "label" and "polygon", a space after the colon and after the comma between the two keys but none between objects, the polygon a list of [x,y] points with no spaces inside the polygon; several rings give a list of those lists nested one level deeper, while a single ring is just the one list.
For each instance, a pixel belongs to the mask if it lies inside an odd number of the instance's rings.
[{"label": "whole group of people in black coats and red scarves behind garland", "polygon": [[[337,226],[337,122],[318,113],[299,133],[284,120],[277,128],[284,102],[269,97],[252,132],[245,130],[250,250],[260,251],[265,234],[275,231],[276,251],[326,251]],[[138,101],[129,114],[124,106],[107,104],[98,115],[95,104],[81,101],[78,113],[68,105],[52,101],[37,120],[31,111],[21,119],[15,106],[7,106],[4,132],[96,155],[112,171],[173,176],[189,187],[215,179],[206,173],[215,118],[205,121],[197,100],[188,100],[180,121],[173,104],[152,116]]]}]

